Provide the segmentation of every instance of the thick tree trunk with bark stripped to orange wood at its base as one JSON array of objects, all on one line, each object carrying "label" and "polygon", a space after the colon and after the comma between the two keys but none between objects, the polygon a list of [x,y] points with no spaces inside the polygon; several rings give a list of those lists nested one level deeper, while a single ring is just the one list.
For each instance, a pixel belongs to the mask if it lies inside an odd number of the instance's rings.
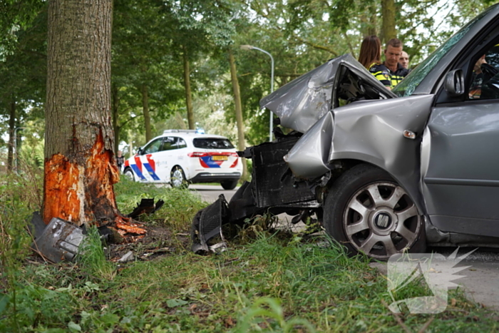
[{"label": "thick tree trunk with bark stripped to orange wood at its base", "polygon": [[115,220],[110,114],[112,0],[48,1],[43,220]]}]

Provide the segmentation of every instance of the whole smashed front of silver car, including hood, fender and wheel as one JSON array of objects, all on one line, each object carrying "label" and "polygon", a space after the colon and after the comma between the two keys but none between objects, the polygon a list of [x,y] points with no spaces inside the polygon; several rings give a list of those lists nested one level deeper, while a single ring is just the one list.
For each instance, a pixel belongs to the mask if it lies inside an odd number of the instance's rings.
[{"label": "whole smashed front of silver car, including hood, fender and wheel", "polygon": [[[421,140],[433,100],[433,94],[398,98],[350,55],[262,98],[260,106],[292,132],[276,128],[272,143],[240,152],[253,161],[252,181],[229,203],[221,198],[205,208],[209,218],[198,213],[192,250],[220,250],[222,225],[265,212],[294,215],[293,222],[315,214],[351,252],[381,260],[406,247],[421,250],[425,230],[430,242],[449,240],[432,228],[421,195]],[[383,181],[359,183],[361,174]]]}]

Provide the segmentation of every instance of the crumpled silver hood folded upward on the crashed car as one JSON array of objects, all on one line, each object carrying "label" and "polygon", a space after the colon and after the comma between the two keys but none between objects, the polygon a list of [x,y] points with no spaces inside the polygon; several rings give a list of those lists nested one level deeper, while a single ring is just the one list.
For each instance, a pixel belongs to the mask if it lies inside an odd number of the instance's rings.
[{"label": "crumpled silver hood folded upward on the crashed car", "polygon": [[260,101],[261,108],[268,108],[279,116],[281,125],[306,133],[327,111],[334,107],[336,86],[348,68],[354,76],[374,86],[379,98],[396,97],[356,61],[350,54],[331,59],[323,65],[294,79]]}]

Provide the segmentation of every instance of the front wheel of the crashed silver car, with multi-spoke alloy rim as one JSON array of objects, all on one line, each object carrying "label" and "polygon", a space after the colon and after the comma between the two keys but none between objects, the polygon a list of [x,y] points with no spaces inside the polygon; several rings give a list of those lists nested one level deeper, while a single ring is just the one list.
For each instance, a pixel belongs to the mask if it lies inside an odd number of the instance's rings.
[{"label": "front wheel of the crashed silver car, with multi-spoke alloy rim", "polygon": [[371,165],[356,165],[335,181],[324,203],[324,225],[352,255],[388,260],[426,248],[413,200],[391,175]]}]

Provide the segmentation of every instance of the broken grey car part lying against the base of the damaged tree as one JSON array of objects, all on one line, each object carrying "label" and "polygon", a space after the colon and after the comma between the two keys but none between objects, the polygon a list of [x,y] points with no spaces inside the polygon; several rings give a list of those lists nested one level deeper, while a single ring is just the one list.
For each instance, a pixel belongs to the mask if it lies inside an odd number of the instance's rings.
[{"label": "broken grey car part lying against the base of the damaged tree", "polygon": [[51,262],[71,261],[85,238],[81,227],[53,217],[31,248]]}]

